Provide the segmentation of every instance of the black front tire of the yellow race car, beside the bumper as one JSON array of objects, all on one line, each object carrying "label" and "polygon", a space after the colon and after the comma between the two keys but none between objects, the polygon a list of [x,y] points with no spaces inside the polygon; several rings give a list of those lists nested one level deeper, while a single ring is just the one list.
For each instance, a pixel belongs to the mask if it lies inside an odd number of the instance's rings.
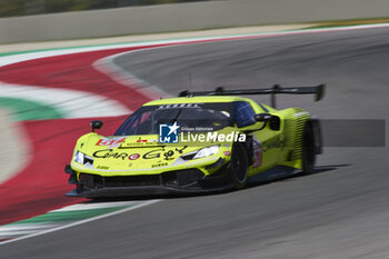
[{"label": "black front tire of the yellow race car, beside the bumper", "polygon": [[242,189],[248,181],[249,159],[243,145],[235,143],[231,153],[229,177],[236,189]]}]

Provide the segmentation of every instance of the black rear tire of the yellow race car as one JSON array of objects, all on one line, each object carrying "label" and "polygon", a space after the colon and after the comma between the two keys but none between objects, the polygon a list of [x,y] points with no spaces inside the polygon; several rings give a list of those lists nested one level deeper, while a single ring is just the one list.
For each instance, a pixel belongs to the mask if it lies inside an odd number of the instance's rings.
[{"label": "black rear tire of the yellow race car", "polygon": [[316,163],[316,147],[315,147],[315,130],[311,122],[307,122],[302,133],[302,175],[310,175],[315,170]]}]

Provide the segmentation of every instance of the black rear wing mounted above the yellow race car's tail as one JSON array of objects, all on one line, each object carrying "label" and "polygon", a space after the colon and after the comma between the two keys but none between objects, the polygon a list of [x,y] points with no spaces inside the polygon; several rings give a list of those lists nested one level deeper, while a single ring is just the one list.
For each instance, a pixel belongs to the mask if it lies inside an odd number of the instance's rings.
[{"label": "black rear wing mounted above the yellow race car's tail", "polygon": [[266,89],[241,89],[241,90],[225,90],[218,87],[213,91],[198,91],[190,92],[188,90],[179,93],[179,97],[198,97],[198,96],[250,96],[250,94],[271,94],[271,106],[276,108],[276,94],[315,94],[315,101],[320,101],[325,96],[325,86],[319,84],[315,87],[293,87],[281,88],[279,84],[275,84],[272,88]]}]

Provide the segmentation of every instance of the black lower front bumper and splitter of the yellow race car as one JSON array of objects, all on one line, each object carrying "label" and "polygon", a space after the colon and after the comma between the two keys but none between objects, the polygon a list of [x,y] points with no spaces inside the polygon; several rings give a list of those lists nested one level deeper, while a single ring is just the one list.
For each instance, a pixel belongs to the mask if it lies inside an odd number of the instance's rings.
[{"label": "black lower front bumper and splitter of the yellow race car", "polygon": [[228,190],[232,188],[227,175],[229,163],[211,176],[205,176],[196,168],[168,171],[160,175],[101,177],[91,173],[77,172],[66,166],[70,173],[69,183],[77,189],[68,192],[69,197],[82,198],[113,198],[140,197],[160,195],[190,195]]}]

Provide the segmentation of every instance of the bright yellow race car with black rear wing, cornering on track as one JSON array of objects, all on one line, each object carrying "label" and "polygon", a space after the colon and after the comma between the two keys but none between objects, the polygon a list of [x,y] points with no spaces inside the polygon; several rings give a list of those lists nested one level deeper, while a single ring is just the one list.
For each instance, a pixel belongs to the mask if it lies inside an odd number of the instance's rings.
[{"label": "bright yellow race car with black rear wing, cornering on track", "polygon": [[[325,86],[189,92],[144,103],[113,136],[78,139],[66,172],[71,197],[91,199],[240,189],[310,173],[321,152],[317,118],[277,110],[278,93],[323,96]],[[271,94],[272,107],[247,94]]]}]

